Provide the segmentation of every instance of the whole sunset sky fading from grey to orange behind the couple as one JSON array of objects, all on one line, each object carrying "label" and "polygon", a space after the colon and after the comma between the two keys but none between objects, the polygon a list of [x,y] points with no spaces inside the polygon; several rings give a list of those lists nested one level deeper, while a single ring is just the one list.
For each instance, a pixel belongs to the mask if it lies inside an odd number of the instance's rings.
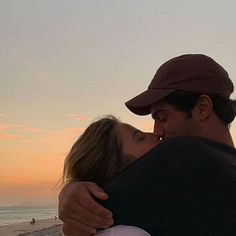
[{"label": "whole sunset sky fading from grey to orange behind the couple", "polygon": [[235,9],[234,0],[0,0],[0,206],[56,204],[64,158],[97,117],[151,131],[151,117],[124,103],[166,60],[207,54],[236,83]]}]

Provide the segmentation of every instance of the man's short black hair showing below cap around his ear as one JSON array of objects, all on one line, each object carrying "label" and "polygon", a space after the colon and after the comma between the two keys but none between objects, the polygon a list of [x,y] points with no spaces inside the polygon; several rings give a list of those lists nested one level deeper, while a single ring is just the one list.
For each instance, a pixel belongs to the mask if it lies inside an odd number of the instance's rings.
[{"label": "man's short black hair showing below cap around his ear", "polygon": [[[174,106],[177,110],[185,112],[187,117],[192,117],[191,111],[195,107],[201,93],[177,90],[162,99]],[[213,109],[224,125],[228,126],[236,115],[236,100],[223,98],[219,95],[208,95],[213,103]]]}]

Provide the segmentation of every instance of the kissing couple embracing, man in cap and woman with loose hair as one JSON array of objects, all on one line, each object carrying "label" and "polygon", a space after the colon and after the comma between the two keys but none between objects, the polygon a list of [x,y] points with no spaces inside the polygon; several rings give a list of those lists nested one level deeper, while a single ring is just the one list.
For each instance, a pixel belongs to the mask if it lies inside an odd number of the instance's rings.
[{"label": "kissing couple embracing, man in cap and woman with loose hair", "polygon": [[92,123],[65,160],[64,233],[236,235],[233,90],[212,58],[181,55],[126,103],[151,114],[153,133],[111,116]]}]

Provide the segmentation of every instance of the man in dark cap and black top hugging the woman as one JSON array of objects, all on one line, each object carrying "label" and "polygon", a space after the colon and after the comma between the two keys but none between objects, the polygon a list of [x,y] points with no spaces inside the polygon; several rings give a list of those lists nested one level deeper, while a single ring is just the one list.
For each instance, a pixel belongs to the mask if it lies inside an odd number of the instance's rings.
[{"label": "man in dark cap and black top hugging the woman", "polygon": [[164,63],[148,89],[126,103],[137,115],[152,115],[163,143],[103,186],[109,198],[93,183],[67,185],[59,196],[64,232],[90,235],[115,223],[151,235],[236,235],[232,92],[228,73],[210,57]]}]

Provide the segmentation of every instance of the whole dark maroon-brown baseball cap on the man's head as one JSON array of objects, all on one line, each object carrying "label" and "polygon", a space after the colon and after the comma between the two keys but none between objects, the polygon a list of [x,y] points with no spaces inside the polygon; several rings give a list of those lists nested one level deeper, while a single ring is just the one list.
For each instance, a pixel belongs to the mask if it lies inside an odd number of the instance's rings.
[{"label": "whole dark maroon-brown baseball cap on the man's head", "polygon": [[229,98],[234,86],[227,71],[212,58],[203,54],[185,54],[161,65],[148,89],[125,105],[137,115],[148,115],[152,104],[176,90]]}]

